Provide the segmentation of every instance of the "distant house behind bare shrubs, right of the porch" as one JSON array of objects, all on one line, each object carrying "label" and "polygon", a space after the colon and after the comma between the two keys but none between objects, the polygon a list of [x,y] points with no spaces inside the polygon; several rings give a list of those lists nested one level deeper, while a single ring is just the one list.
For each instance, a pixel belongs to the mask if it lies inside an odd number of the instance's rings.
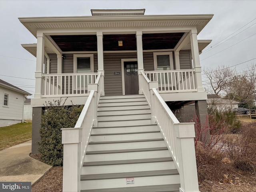
[{"label": "distant house behind bare shrubs, right of the porch", "polygon": [[238,108],[239,102],[221,98],[216,94],[208,94],[207,98],[208,107],[214,106],[219,111],[233,110]]}]

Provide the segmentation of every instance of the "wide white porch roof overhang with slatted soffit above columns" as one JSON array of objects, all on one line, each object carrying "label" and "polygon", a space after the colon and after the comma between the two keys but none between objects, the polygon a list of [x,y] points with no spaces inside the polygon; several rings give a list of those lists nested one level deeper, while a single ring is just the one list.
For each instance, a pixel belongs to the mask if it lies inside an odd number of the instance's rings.
[{"label": "wide white porch roof overhang with slatted soffit above columns", "polygon": [[118,15],[118,16],[69,16],[24,17],[20,22],[36,37],[37,30],[81,28],[144,28],[176,26],[196,27],[197,32],[206,26],[213,14],[188,15]]}]

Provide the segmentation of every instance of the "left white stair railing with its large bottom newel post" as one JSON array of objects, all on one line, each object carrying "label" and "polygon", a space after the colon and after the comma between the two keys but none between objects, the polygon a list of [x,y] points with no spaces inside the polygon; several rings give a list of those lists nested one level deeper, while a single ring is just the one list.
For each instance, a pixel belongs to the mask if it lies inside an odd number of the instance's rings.
[{"label": "left white stair railing with its large bottom newel post", "polygon": [[74,128],[62,129],[63,192],[80,191],[80,173],[84,163],[90,134],[97,126],[97,108],[104,92],[104,75],[98,72],[94,84],[88,84],[89,96]]}]

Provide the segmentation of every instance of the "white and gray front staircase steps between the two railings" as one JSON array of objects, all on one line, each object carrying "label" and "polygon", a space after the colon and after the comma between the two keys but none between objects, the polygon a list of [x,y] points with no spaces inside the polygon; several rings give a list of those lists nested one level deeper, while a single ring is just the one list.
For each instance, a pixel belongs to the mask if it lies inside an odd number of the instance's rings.
[{"label": "white and gray front staircase steps between the two railings", "polygon": [[81,192],[178,192],[180,176],[144,95],[102,96]]}]

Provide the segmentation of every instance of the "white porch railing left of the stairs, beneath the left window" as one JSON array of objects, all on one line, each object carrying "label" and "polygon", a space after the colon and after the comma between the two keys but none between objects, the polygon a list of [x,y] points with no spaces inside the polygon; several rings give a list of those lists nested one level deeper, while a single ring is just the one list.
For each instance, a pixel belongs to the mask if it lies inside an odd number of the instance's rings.
[{"label": "white porch railing left of the stairs, beneath the left window", "polygon": [[78,94],[88,96],[88,84],[96,81],[97,73],[43,74],[42,77],[42,98]]}]

